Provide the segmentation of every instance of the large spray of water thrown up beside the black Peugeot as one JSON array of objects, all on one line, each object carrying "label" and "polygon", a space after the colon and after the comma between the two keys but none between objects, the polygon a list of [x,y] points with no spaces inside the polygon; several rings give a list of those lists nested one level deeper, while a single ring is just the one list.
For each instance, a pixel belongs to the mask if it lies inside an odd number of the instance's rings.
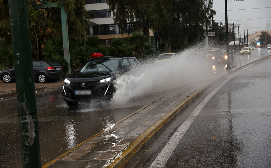
[{"label": "large spray of water thrown up beside the black Peugeot", "polygon": [[118,78],[112,104],[114,106],[140,104],[140,101],[159,93],[212,78],[214,72],[207,66],[202,44],[177,54],[177,58],[162,65],[155,63],[158,55],[154,56],[151,62],[141,62],[139,67]]}]

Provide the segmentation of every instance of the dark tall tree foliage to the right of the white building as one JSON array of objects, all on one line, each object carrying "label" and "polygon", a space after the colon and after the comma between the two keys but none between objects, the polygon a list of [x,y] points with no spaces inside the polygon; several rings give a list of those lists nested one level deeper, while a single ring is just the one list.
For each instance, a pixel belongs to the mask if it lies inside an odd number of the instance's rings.
[{"label": "dark tall tree foliage to the right of the white building", "polygon": [[142,31],[146,37],[149,37],[149,28],[158,30],[167,51],[171,45],[195,42],[215,14],[213,0],[107,0],[107,3],[121,32],[126,30],[127,23],[133,31]]}]

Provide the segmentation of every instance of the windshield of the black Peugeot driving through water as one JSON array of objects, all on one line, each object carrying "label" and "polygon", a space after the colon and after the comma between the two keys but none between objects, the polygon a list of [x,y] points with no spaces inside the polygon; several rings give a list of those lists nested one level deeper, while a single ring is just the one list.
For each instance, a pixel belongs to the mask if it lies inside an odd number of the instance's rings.
[{"label": "windshield of the black Peugeot driving through water", "polygon": [[119,70],[119,60],[95,59],[87,62],[80,72],[111,72]]}]

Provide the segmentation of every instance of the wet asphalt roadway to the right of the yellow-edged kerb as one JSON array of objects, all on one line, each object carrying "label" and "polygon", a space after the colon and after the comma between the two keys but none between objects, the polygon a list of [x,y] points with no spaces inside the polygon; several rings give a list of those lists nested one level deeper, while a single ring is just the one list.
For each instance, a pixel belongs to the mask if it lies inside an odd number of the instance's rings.
[{"label": "wet asphalt roadway to the right of the yellow-edged kerb", "polygon": [[[128,167],[271,167],[271,58],[239,71],[221,88],[220,83],[179,115]],[[217,87],[183,134],[182,123]],[[170,141],[178,134],[183,134],[181,139]],[[169,150],[173,153],[163,161]]]}]

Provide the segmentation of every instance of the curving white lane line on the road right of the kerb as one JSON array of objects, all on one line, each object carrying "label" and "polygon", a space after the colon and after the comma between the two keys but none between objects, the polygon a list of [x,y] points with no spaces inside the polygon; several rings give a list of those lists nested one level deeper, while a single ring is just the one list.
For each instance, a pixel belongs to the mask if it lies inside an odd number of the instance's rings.
[{"label": "curving white lane line on the road right of the kerb", "polygon": [[[252,66],[252,65],[250,65]],[[248,67],[250,67],[248,66]],[[242,70],[247,69],[248,67],[245,67]],[[240,70],[239,72],[241,72]],[[187,117],[187,119],[182,123],[182,125],[178,128],[178,130],[174,133],[174,135],[171,137],[170,141],[165,145],[165,147],[162,149],[162,151],[159,153],[159,155],[156,157],[155,161],[151,164],[150,168],[163,168],[170,158],[171,154],[175,150],[176,146],[178,145],[181,138],[184,136],[185,132],[188,130],[192,122],[195,120],[195,118],[198,116],[200,111],[203,109],[203,107],[206,105],[206,103],[214,96],[214,94],[225,84],[227,83],[231,78],[233,78],[235,75],[237,75],[239,72],[234,73],[230,77],[228,77],[224,82],[222,82],[218,87],[216,87],[207,97],[203,99],[203,101],[200,102],[200,104],[195,108],[194,111]]]}]

